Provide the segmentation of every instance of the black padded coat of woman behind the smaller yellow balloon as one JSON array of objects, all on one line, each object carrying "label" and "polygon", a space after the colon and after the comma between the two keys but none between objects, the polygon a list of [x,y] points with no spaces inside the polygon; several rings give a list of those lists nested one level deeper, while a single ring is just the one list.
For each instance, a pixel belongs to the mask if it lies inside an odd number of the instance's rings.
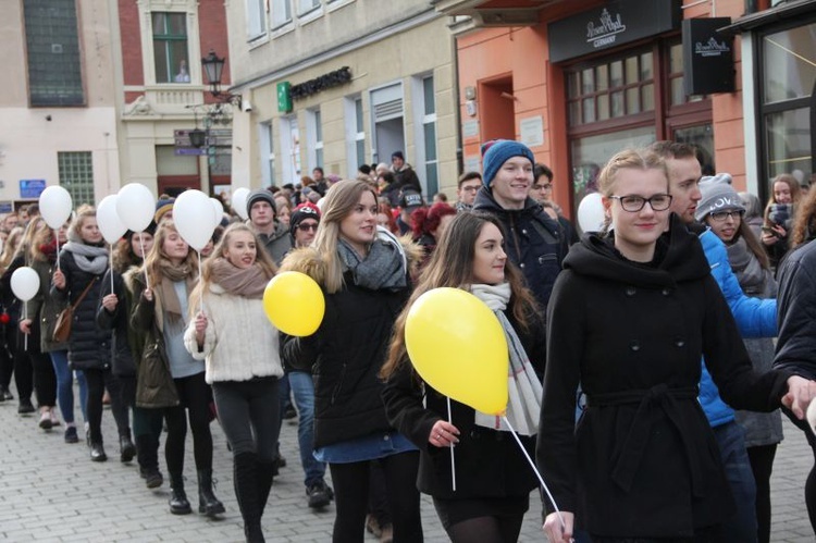
[{"label": "black padded coat of woman behind the smaller yellow balloon", "polygon": [[314,360],[314,448],[392,430],[378,377],[392,329],[410,295],[354,284],[325,291],[325,317],[308,337],[287,337],[284,360]]}]

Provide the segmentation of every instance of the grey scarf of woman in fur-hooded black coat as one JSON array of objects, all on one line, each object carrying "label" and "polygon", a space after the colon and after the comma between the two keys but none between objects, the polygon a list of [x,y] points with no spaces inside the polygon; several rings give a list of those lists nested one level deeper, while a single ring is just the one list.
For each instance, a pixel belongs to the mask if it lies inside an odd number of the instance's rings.
[{"label": "grey scarf of woman in fur-hooded black coat", "polygon": [[357,286],[372,291],[397,291],[408,286],[405,261],[399,249],[391,242],[374,239],[369,254],[360,257],[348,243],[338,239],[337,252],[345,268],[351,271]]}]

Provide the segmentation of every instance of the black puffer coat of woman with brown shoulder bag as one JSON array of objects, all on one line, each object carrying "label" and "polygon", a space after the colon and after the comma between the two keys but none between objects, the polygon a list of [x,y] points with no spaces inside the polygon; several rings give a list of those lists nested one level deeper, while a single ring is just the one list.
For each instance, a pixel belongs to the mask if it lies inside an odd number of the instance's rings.
[{"label": "black puffer coat of woman with brown shoulder bag", "polygon": [[111,368],[111,335],[97,324],[100,281],[104,273],[95,275],[76,264],[71,251],[60,251],[60,269],[65,275],[65,289],[51,286],[51,295],[58,300],[76,303],[85,287],[91,284],[88,294],[74,310],[74,320],[69,337],[69,363],[72,369],[108,370]]}]

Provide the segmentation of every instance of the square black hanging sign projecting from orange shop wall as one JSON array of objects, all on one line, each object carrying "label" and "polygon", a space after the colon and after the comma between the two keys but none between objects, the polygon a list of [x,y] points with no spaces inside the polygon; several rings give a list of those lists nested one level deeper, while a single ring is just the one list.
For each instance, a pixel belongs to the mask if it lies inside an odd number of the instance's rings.
[{"label": "square black hanging sign projecting from orange shop wall", "polygon": [[734,91],[733,38],[717,28],[730,17],[683,21],[683,90],[685,95]]}]

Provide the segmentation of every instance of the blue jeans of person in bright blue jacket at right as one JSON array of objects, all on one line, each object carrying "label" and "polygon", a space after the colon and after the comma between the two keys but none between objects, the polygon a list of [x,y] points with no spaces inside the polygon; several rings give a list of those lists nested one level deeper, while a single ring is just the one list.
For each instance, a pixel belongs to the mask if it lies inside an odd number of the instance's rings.
[{"label": "blue jeans of person in bright blue jacket at right", "polygon": [[756,543],[756,483],[745,448],[745,431],[735,421],[713,428],[737,513],[722,522],[726,541]]}]

